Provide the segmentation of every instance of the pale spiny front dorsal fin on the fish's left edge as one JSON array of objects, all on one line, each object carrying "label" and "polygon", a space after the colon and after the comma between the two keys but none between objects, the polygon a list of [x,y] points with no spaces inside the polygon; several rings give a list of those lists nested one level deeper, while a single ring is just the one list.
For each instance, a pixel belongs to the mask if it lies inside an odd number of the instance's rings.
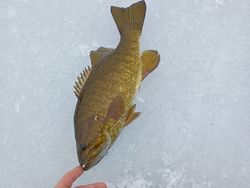
[{"label": "pale spiny front dorsal fin on the fish's left edge", "polygon": [[79,76],[77,76],[77,81],[75,82],[74,85],[74,93],[76,95],[76,97],[79,97],[81,92],[82,92],[82,88],[84,86],[84,84],[86,83],[90,73],[91,73],[92,67],[87,66],[87,68],[85,68]]}]

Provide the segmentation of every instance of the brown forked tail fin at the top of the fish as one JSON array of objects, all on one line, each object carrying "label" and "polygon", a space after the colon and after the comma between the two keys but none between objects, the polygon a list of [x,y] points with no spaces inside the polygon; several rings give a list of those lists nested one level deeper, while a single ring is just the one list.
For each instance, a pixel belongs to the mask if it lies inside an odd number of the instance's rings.
[{"label": "brown forked tail fin at the top of the fish", "polygon": [[145,1],[139,1],[128,8],[112,6],[111,13],[121,36],[126,30],[138,31],[141,34],[146,14]]}]

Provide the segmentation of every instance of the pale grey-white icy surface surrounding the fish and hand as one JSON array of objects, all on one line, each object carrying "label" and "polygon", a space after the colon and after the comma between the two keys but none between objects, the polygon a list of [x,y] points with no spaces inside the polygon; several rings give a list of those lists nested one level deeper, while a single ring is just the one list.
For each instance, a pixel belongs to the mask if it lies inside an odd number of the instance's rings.
[{"label": "pale grey-white icy surface surrounding the fish and hand", "polygon": [[[116,47],[125,0],[0,1],[0,187],[52,187],[78,164],[73,83],[89,52]],[[250,186],[250,1],[147,0],[141,50],[159,67],[142,115],[74,185]]]}]

